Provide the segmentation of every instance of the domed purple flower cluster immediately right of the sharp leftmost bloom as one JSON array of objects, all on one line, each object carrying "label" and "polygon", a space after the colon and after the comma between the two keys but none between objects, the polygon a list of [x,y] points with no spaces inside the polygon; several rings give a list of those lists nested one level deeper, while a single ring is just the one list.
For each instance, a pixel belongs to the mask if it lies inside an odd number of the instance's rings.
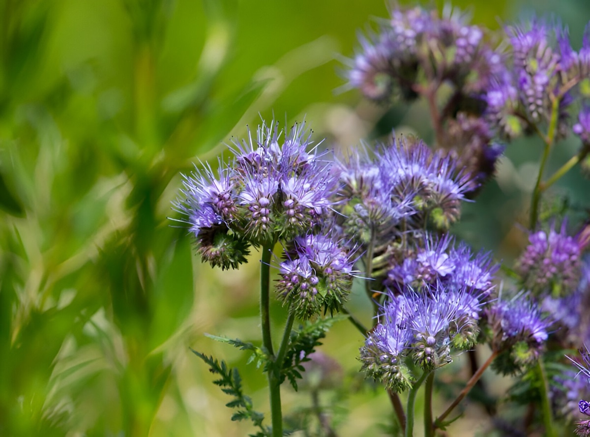
[{"label": "domed purple flower cluster immediately right of the sharp leftmost bloom", "polygon": [[371,238],[391,239],[401,224],[404,229],[447,229],[460,216],[470,182],[452,157],[403,138],[379,144],[372,159],[366,152],[353,155],[337,163],[333,173],[342,186],[343,228],[365,244]]}]

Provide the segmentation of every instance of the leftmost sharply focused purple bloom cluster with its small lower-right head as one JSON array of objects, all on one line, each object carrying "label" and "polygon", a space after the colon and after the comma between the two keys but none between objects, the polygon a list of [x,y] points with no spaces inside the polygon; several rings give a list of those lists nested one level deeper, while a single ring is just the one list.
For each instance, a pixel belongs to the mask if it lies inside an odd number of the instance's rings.
[{"label": "leftmost sharply focused purple bloom cluster with its small lower-right head", "polygon": [[[333,218],[337,178],[317,153],[304,123],[281,139],[276,123],[258,127],[255,142],[233,142],[217,175],[208,166],[183,181],[176,209],[185,215],[203,259],[237,268],[248,248],[288,247],[280,262],[278,296],[301,318],[336,310],[350,291],[354,259],[336,232],[319,234]],[[282,143],[282,144],[280,144]]]}]

